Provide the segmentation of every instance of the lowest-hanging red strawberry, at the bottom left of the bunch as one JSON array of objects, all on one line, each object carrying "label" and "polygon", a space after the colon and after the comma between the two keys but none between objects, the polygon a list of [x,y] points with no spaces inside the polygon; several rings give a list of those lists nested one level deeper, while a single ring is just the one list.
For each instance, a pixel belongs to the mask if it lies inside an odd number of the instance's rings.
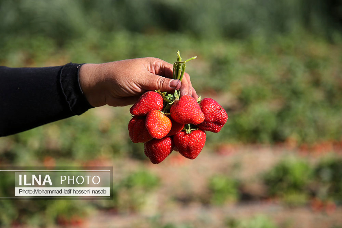
[{"label": "lowest-hanging red strawberry, at the bottom left of the bunch", "polygon": [[165,160],[173,150],[173,141],[170,137],[152,139],[144,143],[144,153],[153,164]]}]

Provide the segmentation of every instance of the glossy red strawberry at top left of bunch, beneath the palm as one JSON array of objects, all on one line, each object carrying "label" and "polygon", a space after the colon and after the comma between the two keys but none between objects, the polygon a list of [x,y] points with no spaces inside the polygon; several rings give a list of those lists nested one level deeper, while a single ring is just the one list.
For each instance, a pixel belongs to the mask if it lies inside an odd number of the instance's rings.
[{"label": "glossy red strawberry at top left of bunch, beneath the palm", "polygon": [[130,108],[134,116],[146,116],[149,111],[161,110],[163,108],[162,96],[154,91],[148,91],[141,95],[139,100]]}]

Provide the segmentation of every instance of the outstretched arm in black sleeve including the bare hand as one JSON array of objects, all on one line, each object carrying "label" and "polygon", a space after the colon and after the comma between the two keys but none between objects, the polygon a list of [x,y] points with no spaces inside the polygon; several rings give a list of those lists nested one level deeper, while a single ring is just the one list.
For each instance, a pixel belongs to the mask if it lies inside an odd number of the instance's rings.
[{"label": "outstretched arm in black sleeve including the bare hand", "polygon": [[[0,136],[80,115],[91,107],[134,104],[146,91],[198,98],[189,75],[172,79],[173,65],[158,58],[58,67],[0,66]],[[82,89],[81,89],[82,88]],[[83,92],[84,94],[83,94]]]}]

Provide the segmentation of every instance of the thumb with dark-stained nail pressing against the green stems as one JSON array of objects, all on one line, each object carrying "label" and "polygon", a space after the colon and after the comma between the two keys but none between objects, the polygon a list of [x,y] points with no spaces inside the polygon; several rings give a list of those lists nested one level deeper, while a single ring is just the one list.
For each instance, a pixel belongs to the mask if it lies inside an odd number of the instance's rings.
[{"label": "thumb with dark-stained nail pressing against the green stems", "polygon": [[154,91],[160,90],[162,92],[173,92],[181,88],[181,81],[177,79],[165,78],[154,73],[148,73],[143,80],[141,86],[144,90]]}]

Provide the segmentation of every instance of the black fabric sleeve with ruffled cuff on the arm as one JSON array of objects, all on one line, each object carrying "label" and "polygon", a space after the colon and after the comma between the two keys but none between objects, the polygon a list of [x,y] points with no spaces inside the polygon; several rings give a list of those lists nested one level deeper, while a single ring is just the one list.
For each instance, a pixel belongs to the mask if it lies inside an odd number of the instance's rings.
[{"label": "black fabric sleeve with ruffled cuff on the arm", "polygon": [[79,84],[81,65],[0,66],[0,136],[81,115],[92,108]]}]

